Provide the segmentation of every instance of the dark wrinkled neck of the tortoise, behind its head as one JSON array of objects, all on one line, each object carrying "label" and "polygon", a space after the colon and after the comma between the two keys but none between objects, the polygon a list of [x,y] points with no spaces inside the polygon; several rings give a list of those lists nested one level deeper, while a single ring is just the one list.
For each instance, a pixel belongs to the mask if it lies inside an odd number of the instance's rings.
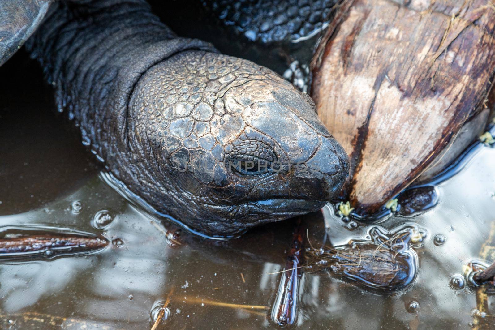
[{"label": "dark wrinkled neck of the tortoise, behind its head", "polygon": [[144,0],[57,1],[26,46],[55,88],[58,111],[103,159],[126,151],[129,98],[148,68],[186,49],[213,50],[177,38]]}]

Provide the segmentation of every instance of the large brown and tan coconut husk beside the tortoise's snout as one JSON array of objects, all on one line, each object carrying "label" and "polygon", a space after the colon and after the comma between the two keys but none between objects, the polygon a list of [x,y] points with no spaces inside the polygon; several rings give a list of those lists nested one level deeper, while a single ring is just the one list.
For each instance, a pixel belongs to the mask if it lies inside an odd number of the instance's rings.
[{"label": "large brown and tan coconut husk beside the tortoise's snout", "polygon": [[311,93],[350,157],[344,194],[358,213],[438,163],[485,108],[494,30],[490,0],[341,4],[313,58]]}]

